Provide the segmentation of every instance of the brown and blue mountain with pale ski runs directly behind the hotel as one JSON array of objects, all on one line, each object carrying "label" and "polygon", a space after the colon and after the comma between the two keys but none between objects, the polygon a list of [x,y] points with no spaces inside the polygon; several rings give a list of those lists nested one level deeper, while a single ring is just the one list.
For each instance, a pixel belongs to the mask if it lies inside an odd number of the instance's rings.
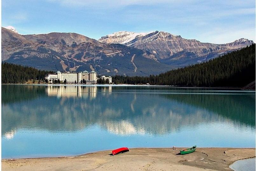
[{"label": "brown and blue mountain with pale ski runs directly behind the hotel", "polygon": [[52,71],[149,75],[172,69],[148,51],[104,44],[76,33],[19,35],[2,28],[2,61]]}]

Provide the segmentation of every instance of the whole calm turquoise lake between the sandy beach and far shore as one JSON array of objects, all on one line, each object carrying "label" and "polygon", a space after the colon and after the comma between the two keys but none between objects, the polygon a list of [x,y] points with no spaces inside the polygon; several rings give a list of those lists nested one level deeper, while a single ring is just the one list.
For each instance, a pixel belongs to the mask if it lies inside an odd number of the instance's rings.
[{"label": "whole calm turquoise lake between the sandy beach and far shore", "polygon": [[2,158],[120,147],[253,147],[255,91],[2,85]]}]

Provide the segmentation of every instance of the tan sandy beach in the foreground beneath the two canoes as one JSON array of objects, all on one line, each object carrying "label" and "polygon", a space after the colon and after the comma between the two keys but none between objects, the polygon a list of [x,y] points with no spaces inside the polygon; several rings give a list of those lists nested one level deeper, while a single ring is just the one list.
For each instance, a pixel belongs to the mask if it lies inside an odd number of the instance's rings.
[{"label": "tan sandy beach in the foreground beneath the two canoes", "polygon": [[[2,170],[231,170],[239,159],[255,157],[254,148],[197,148],[177,155],[183,148],[135,148],[111,156],[111,150],[80,157],[51,157],[2,161]],[[224,153],[225,151],[225,153]]]}]

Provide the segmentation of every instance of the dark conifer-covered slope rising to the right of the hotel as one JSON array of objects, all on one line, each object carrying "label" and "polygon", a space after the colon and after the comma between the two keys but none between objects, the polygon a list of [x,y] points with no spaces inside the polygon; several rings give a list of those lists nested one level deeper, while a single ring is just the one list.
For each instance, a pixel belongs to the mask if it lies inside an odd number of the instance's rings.
[{"label": "dark conifer-covered slope rising to the right of the hotel", "polygon": [[205,63],[149,77],[116,75],[115,84],[243,87],[255,80],[255,44]]}]

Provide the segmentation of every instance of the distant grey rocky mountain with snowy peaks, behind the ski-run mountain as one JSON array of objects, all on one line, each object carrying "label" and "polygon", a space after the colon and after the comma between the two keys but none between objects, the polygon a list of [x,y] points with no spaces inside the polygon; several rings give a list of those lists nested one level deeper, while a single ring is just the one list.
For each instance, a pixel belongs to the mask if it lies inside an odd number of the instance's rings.
[{"label": "distant grey rocky mountain with snowy peaks, behind the ski-run mountain", "polygon": [[[128,32],[129,35],[136,35],[129,39],[126,39],[127,32],[117,33],[101,37],[99,41],[121,43],[129,47],[144,49],[154,54],[157,60],[169,64],[171,64],[171,61],[184,60],[186,58],[193,58],[194,61],[197,61],[195,58],[207,60],[206,56],[217,57],[223,52],[230,52],[253,43],[253,41],[244,38],[226,44],[202,43],[195,39],[184,39],[180,35],[173,35],[163,31],[155,31],[148,34]],[[202,59],[198,59],[198,61]]]}]

